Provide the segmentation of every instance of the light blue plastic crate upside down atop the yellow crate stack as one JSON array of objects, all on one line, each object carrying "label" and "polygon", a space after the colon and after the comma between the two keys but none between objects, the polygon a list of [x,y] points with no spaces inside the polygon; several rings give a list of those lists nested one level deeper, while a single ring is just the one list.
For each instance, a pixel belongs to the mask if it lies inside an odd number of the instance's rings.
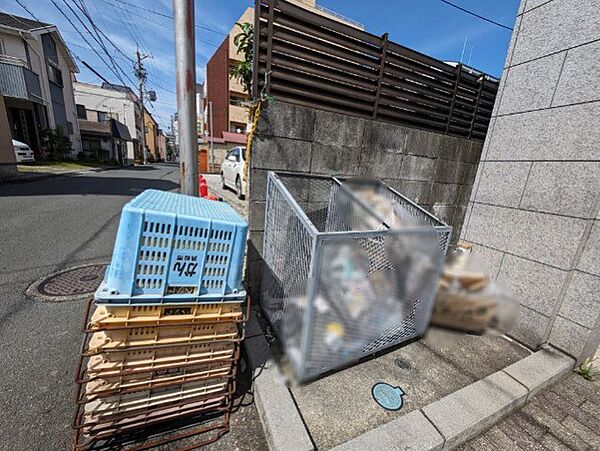
[{"label": "light blue plastic crate upside down atop the yellow crate stack", "polygon": [[146,190],[123,208],[96,302],[239,302],[247,232],[226,203]]}]

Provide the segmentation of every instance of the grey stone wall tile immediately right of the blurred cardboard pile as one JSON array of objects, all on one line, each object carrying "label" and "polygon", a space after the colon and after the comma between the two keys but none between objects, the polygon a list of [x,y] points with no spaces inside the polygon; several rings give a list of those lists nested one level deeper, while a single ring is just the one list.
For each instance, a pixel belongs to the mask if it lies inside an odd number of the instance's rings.
[{"label": "grey stone wall tile immediately right of the blurred cardboard pile", "polygon": [[519,303],[552,316],[567,274],[567,271],[507,254],[498,281],[513,290]]}]

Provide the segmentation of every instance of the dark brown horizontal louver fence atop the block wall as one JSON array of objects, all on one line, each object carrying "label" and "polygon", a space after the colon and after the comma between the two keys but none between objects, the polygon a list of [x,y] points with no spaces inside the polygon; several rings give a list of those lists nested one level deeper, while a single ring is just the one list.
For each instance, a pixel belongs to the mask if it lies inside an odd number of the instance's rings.
[{"label": "dark brown horizontal louver fence atop the block wall", "polygon": [[490,76],[284,0],[255,0],[254,30],[254,96],[485,138],[498,90]]}]

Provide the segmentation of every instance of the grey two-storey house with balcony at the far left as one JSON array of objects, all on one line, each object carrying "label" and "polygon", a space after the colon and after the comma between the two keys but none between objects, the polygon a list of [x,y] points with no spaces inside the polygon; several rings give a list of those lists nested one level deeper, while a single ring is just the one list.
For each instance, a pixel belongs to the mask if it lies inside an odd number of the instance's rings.
[{"label": "grey two-storey house with balcony at the far left", "polygon": [[54,25],[0,13],[0,92],[13,139],[34,151],[44,128],[60,128],[81,151],[73,79],[79,72]]}]

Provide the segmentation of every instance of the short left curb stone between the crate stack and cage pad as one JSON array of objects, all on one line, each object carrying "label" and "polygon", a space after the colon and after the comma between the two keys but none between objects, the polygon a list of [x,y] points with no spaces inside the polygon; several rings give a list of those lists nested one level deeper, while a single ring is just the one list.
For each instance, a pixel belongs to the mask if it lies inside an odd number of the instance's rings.
[{"label": "short left curb stone between the crate stack and cage pad", "polygon": [[312,451],[314,446],[294,400],[271,362],[257,370],[254,381],[256,408],[271,451]]}]

